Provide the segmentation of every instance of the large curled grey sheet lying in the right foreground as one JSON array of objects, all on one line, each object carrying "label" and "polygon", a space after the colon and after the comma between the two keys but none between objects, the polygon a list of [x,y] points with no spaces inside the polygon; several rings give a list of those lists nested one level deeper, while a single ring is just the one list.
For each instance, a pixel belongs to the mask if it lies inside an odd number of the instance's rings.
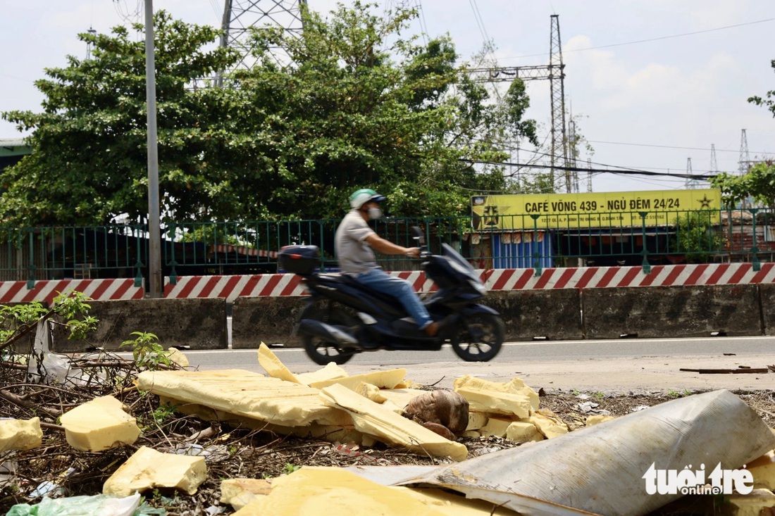
[{"label": "large curled grey sheet lying in the right foreground", "polygon": [[701,464],[708,471],[735,470],[773,448],[775,435],[756,412],[728,390],[716,390],[442,466],[401,485],[446,487],[529,514],[639,516],[683,496],[647,493],[643,475],[655,463],[660,470]]}]

